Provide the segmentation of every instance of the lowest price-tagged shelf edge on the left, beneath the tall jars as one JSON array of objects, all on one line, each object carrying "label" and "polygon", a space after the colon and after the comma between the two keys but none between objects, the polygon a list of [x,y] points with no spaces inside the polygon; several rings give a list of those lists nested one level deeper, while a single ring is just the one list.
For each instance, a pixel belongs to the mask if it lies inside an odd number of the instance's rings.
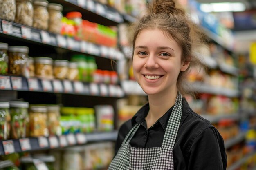
[{"label": "lowest price-tagged shelf edge on the left, beneath the tall jars", "polygon": [[1,155],[8,155],[15,152],[31,152],[36,150],[49,150],[68,146],[83,145],[88,142],[115,141],[117,131],[96,132],[91,134],[68,134],[50,137],[28,137],[22,139],[11,139],[0,141]]}]

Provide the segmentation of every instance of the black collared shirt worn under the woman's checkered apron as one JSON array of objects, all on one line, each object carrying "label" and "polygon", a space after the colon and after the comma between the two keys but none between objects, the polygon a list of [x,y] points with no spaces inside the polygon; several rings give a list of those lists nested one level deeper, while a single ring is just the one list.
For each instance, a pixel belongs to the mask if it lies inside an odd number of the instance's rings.
[{"label": "black collared shirt worn under the woman's checkered apron", "polygon": [[[206,119],[193,112],[186,99],[182,100],[182,117],[176,137],[174,152],[175,170],[226,170],[227,156],[224,141],[218,130]],[[153,126],[147,129],[145,117],[149,105],[124,123],[118,134],[115,153],[124,137],[136,124],[141,124],[130,141],[132,147],[160,147],[173,108],[170,108]]]}]

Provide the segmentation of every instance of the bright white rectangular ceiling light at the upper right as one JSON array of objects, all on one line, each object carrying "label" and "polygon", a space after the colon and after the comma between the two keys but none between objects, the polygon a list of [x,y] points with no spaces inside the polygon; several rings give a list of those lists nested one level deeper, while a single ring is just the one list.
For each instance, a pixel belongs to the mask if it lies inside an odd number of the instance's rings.
[{"label": "bright white rectangular ceiling light at the upper right", "polygon": [[240,2],[222,2],[200,4],[200,9],[204,12],[241,12],[245,11],[245,4]]}]

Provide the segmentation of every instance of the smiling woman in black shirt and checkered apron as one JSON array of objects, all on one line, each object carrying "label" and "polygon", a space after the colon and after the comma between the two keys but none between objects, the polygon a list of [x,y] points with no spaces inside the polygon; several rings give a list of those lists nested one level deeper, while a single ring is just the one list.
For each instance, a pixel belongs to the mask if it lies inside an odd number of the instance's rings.
[{"label": "smiling woman in black shirt and checkered apron", "polygon": [[156,0],[135,26],[133,71],[148,104],[121,126],[109,170],[226,169],[218,130],[182,98],[200,35],[173,0]]}]

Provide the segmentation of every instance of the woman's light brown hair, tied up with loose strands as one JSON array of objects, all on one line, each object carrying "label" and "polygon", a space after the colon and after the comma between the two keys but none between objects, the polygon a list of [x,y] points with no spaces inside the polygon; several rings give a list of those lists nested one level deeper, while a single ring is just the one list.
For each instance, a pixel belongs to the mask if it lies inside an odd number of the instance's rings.
[{"label": "woman's light brown hair, tied up with loose strands", "polygon": [[[148,11],[137,21],[134,26],[133,53],[135,40],[144,29],[160,29],[164,34],[173,38],[182,48],[182,61],[189,61],[191,66],[203,66],[200,57],[196,56],[194,50],[203,43],[204,34],[186,15],[184,9],[177,7],[175,0],[153,0],[149,4]],[[180,72],[177,79],[177,88],[180,93],[188,94],[189,89],[184,80],[190,69]]]}]

